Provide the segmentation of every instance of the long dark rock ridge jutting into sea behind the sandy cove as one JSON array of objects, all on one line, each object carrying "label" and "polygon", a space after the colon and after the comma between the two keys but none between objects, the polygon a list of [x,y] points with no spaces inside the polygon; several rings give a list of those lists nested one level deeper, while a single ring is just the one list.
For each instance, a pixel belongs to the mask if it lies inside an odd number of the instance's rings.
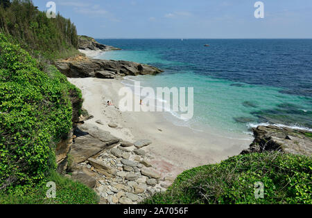
[{"label": "long dark rock ridge jutting into sea behind the sandy cove", "polygon": [[69,78],[112,79],[125,75],[156,75],[157,73],[162,73],[161,70],[147,64],[89,59],[87,57],[57,61],[55,66]]}]

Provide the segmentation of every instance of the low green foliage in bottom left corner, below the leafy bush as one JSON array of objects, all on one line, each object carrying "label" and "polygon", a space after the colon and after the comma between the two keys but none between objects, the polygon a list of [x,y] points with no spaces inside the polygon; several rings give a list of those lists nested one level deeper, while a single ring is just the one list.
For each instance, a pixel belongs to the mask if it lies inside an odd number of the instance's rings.
[{"label": "low green foliage in bottom left corner, below the leafy bush", "polygon": [[71,181],[66,177],[53,172],[45,181],[54,181],[56,184],[55,199],[46,197],[49,190],[46,185],[37,185],[27,194],[6,194],[0,191],[0,204],[95,204],[98,196],[87,186]]}]

